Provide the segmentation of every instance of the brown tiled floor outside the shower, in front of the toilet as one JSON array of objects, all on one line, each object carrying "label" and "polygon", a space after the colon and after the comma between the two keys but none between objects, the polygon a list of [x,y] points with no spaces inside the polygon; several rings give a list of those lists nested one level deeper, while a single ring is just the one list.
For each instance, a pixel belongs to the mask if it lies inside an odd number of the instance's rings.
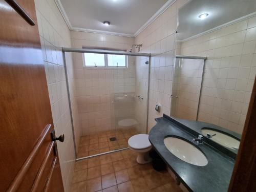
[{"label": "brown tiled floor outside the shower, in front of the toilet", "polygon": [[72,192],[181,191],[167,171],[157,172],[152,164],[138,164],[136,154],[123,150],[78,161]]}]

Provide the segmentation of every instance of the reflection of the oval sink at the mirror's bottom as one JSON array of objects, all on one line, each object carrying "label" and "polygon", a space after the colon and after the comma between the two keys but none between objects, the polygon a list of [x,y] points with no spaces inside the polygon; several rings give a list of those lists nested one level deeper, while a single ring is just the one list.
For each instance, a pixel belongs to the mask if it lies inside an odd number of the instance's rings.
[{"label": "reflection of the oval sink at the mirror's bottom", "polygon": [[[203,128],[201,131],[204,136],[207,136],[208,134],[208,138],[210,138],[212,141],[215,141],[225,147],[231,148],[232,150],[238,150],[238,147],[240,144],[240,141],[238,139],[235,139],[217,130]],[[212,135],[212,136],[209,136],[209,135]]]}]

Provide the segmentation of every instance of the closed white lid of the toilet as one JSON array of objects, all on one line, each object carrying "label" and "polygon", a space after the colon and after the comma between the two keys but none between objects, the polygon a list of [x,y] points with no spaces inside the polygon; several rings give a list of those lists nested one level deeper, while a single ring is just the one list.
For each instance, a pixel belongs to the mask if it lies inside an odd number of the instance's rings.
[{"label": "closed white lid of the toilet", "polygon": [[138,134],[132,136],[128,140],[128,144],[130,147],[136,150],[142,150],[151,146],[150,140],[148,140],[148,135],[146,134]]}]

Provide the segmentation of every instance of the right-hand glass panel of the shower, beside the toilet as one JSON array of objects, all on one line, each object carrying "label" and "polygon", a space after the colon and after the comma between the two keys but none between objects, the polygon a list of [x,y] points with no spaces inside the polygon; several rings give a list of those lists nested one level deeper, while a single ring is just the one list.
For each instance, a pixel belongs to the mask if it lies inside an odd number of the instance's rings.
[{"label": "right-hand glass panel of the shower, beside the toilet", "polygon": [[128,139],[146,133],[148,57],[127,56],[127,68],[114,69],[113,135],[110,151],[128,147]]}]

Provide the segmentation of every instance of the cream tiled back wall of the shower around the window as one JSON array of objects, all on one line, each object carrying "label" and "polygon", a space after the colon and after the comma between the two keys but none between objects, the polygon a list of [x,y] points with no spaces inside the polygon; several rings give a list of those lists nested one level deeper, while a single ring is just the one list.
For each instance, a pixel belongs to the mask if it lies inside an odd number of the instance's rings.
[{"label": "cream tiled back wall of the shower around the window", "polygon": [[[99,33],[71,32],[72,47],[104,47],[129,50],[134,38]],[[82,54],[73,53],[76,99],[83,135],[90,135],[115,128],[116,117],[131,112],[131,106],[114,103],[114,93],[135,92],[134,57],[128,58],[128,68],[85,68]],[[118,95],[116,95],[118,96]],[[128,102],[127,100],[126,103]],[[119,109],[119,108],[122,109]],[[115,112],[116,108],[116,112]],[[134,111],[134,110],[132,110]],[[131,112],[134,113],[134,112]],[[127,114],[127,115],[131,115]]]}]

